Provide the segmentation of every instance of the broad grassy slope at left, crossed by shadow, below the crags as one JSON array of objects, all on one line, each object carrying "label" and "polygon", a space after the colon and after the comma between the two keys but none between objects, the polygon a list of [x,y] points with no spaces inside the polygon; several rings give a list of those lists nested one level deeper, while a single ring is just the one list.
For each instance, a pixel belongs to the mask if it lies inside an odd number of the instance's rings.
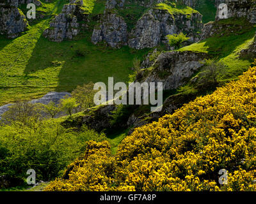
[{"label": "broad grassy slope at left, crossed by shadow, below the crags", "polygon": [[[56,0],[38,9],[56,15],[63,3]],[[54,8],[54,5],[58,6]],[[100,0],[92,13],[102,13],[102,6],[104,1]],[[32,22],[29,31],[15,40],[0,36],[0,105],[39,98],[49,91],[72,91],[77,85],[90,81],[108,82],[108,77],[127,82],[134,57],[142,57],[147,52],[95,46],[90,42],[92,31],[74,41],[48,41],[42,31],[50,19]],[[84,57],[77,56],[76,50],[81,50]]]}]

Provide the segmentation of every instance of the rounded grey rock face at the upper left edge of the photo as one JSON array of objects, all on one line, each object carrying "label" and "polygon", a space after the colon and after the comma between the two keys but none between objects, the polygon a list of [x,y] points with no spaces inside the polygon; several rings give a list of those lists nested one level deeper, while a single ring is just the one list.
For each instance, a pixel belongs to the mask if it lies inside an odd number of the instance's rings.
[{"label": "rounded grey rock face at the upper left edge of the photo", "polygon": [[0,33],[8,38],[16,38],[25,31],[28,22],[25,15],[16,7],[0,7]]}]

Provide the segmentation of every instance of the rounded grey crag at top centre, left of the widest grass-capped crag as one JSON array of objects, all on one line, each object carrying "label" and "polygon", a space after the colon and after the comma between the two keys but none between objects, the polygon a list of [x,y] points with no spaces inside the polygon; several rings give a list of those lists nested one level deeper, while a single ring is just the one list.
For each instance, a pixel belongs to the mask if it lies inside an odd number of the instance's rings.
[{"label": "rounded grey crag at top centre, left of the widest grass-capped crag", "polygon": [[106,41],[111,47],[120,47],[127,42],[127,24],[124,18],[115,13],[105,13],[100,25],[93,29],[92,42],[94,44]]}]

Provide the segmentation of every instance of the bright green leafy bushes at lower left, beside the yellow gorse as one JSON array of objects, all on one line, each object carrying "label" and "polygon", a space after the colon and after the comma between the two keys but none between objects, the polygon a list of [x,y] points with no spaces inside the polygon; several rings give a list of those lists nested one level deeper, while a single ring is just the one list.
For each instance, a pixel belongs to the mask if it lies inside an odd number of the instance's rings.
[{"label": "bright green leafy bushes at lower left, beside the yellow gorse", "polygon": [[26,179],[26,171],[36,171],[36,179],[58,177],[72,159],[86,149],[86,141],[108,140],[104,134],[81,128],[79,132],[63,128],[55,120],[30,126],[18,123],[0,127],[0,175]]}]

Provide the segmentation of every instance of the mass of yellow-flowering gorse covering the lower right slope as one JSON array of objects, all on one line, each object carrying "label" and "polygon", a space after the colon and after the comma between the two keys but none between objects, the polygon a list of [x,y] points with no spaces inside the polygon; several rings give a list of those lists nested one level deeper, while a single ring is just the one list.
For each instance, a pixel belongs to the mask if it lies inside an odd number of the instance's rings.
[{"label": "mass of yellow-flowering gorse covering the lower right slope", "polygon": [[89,142],[70,166],[47,191],[255,191],[256,67],[135,129],[115,156],[108,142]]}]

